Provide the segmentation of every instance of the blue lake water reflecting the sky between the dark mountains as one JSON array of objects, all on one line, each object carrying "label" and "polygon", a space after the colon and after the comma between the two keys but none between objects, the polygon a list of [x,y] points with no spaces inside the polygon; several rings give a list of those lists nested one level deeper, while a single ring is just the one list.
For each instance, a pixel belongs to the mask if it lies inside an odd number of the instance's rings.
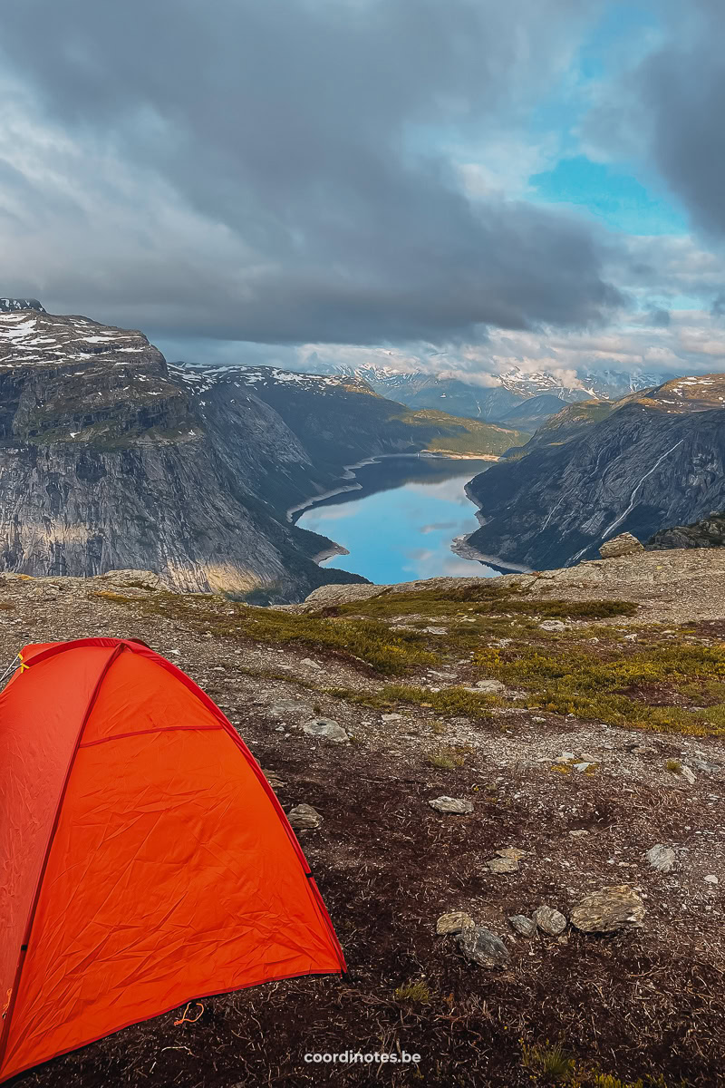
[{"label": "blue lake water reflecting the sky between the dark mountains", "polygon": [[298,524],[346,547],[323,566],[372,582],[409,582],[441,574],[492,578],[499,571],[451,552],[454,537],[477,528],[464,487],[490,461],[443,457],[384,457],[354,470],[355,491],[324,498]]}]

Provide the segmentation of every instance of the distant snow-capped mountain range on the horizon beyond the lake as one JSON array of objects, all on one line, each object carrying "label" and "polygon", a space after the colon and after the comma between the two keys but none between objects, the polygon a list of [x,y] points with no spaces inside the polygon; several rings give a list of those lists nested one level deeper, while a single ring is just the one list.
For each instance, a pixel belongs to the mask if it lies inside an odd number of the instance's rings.
[{"label": "distant snow-capped mountain range on the horizon beyond the lake", "polygon": [[[453,416],[470,419],[485,419],[512,426],[526,426],[532,421],[540,425],[555,415],[561,401],[616,399],[627,393],[638,392],[659,385],[664,375],[654,371],[630,372],[583,370],[577,373],[576,387],[562,385],[561,378],[546,370],[525,371],[510,368],[500,375],[486,375],[486,382],[464,381],[462,378],[405,371],[393,367],[325,363],[317,355],[308,360],[308,366],[318,372],[340,374],[366,382],[382,396],[390,397],[410,408],[442,408]],[[526,400],[546,396],[533,407],[533,413],[524,410]]]}]

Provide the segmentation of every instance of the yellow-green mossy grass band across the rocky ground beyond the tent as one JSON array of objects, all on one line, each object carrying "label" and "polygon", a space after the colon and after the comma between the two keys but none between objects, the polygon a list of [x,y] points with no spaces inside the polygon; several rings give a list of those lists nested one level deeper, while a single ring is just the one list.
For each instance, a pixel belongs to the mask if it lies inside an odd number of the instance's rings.
[{"label": "yellow-green mossy grass band across the rocky ground beyond the tent", "polygon": [[[399,678],[372,692],[329,690],[379,709],[402,703],[430,709],[442,719],[492,719],[501,700],[467,690],[475,678],[439,691],[404,679],[425,666],[471,663],[478,678],[496,678],[521,693],[508,700],[514,708],[664,733],[725,735],[725,643],[702,645],[684,628],[683,640],[675,641],[658,626],[628,626],[627,631],[638,635],[633,643],[625,642],[624,631],[615,626],[587,623],[634,615],[636,606],[627,602],[539,601],[517,586],[484,579],[458,588],[439,584],[427,592],[388,591],[321,614],[299,615],[215,596],[190,601],[167,592],[142,598],[113,591],[99,595],[218,639],[297,646]],[[393,618],[404,618],[410,629],[395,628]],[[542,618],[579,622],[550,632],[540,629]],[[445,639],[425,632],[432,620],[446,621]]]}]

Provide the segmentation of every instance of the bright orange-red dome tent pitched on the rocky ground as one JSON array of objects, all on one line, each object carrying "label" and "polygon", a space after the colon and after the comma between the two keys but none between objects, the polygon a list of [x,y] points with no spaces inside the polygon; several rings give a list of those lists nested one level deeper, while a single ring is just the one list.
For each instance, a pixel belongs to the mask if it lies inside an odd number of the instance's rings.
[{"label": "bright orange-red dome tent pitched on the rocky ground", "polygon": [[0,694],[0,1081],[211,993],[343,973],[249,749],[120,639],[26,646]]}]

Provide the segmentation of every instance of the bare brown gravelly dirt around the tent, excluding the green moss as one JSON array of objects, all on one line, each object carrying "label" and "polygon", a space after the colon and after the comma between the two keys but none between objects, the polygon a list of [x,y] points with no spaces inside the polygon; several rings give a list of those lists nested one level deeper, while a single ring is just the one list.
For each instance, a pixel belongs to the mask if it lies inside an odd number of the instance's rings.
[{"label": "bare brown gravelly dirt around the tent, excluding the green moss", "polygon": [[[652,555],[661,561],[662,553]],[[547,581],[541,592],[549,592]],[[580,576],[578,581],[584,584]],[[120,595],[138,594],[136,607],[112,593],[97,596],[100,584],[112,589],[100,579],[1,578],[3,667],[26,642],[104,634],[141,639],[187,671],[262,767],[278,776],[283,806],[307,803],[322,816],[322,826],[300,832],[300,841],[350,974],[204,999],[193,1024],[175,1026],[183,1010],[170,1013],[14,1083],[725,1084],[725,739],[645,733],[533,712],[515,701],[495,708],[488,720],[441,720],[425,705],[402,704],[395,707],[399,717],[384,720],[389,707],[328,692],[379,691],[385,678],[368,666],[329,651],[207,632],[197,618],[199,597],[185,598],[188,620],[184,609],[173,619],[154,619],[141,607],[149,593],[118,589]],[[600,584],[597,596],[622,592],[633,599],[632,578],[623,577],[622,585],[603,593]],[[665,591],[679,601],[676,607],[665,604],[657,578],[652,586],[648,620],[674,623],[702,614],[725,623],[725,595],[712,583],[707,601]],[[577,598],[588,589],[574,584],[570,592]],[[712,644],[725,627],[700,631]],[[414,682],[430,691],[470,683],[468,664],[459,665],[448,679],[442,668],[422,666]],[[339,722],[350,743],[302,733],[313,716]],[[462,765],[434,765],[441,745],[464,752]],[[575,761],[557,763],[564,753],[591,755],[592,767],[578,771]],[[682,764],[693,769],[693,781],[673,771]],[[472,801],[473,814],[434,811],[428,801],[440,795]],[[645,856],[658,843],[675,851],[668,873],[653,869]],[[518,869],[489,871],[485,862],[507,846],[525,852]],[[515,914],[530,917],[542,904],[568,917],[585,894],[611,885],[628,885],[641,897],[647,913],[640,928],[596,936],[570,926],[560,938],[524,938],[508,922]],[[503,939],[510,952],[503,968],[471,964],[454,938],[436,936],[436,919],[450,911],[468,912]],[[412,997],[400,991],[416,982],[425,986]],[[568,1062],[561,1067],[549,1060],[559,1044]],[[304,1060],[345,1051],[421,1058],[334,1070]]]}]

